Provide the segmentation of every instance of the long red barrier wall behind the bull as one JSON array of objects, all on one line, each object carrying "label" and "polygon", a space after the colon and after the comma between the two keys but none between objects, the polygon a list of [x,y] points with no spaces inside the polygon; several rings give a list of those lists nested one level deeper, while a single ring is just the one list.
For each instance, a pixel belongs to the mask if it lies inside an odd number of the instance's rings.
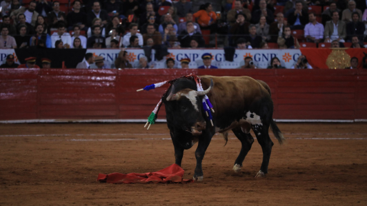
[{"label": "long red barrier wall behind the bull", "polygon": [[190,73],[265,81],[275,119],[367,119],[365,70],[0,69],[0,120],[146,119],[167,86],[136,90]]}]

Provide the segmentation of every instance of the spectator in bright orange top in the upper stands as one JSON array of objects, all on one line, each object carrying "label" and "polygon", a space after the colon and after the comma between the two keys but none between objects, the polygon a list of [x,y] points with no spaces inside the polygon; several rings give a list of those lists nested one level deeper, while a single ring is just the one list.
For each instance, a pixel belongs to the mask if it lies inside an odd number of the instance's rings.
[{"label": "spectator in bright orange top in the upper stands", "polygon": [[212,4],[205,3],[201,7],[201,10],[192,14],[192,17],[197,19],[197,23],[201,26],[201,30],[210,30],[210,33],[215,33],[217,28],[217,14],[212,11]]}]

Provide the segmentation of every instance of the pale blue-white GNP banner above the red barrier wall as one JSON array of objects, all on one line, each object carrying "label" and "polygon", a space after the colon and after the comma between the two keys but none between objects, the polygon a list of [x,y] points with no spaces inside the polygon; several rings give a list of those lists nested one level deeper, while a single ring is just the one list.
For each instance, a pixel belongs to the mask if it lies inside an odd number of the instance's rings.
[{"label": "pale blue-white GNP banner above the red barrier wall", "polygon": [[[128,60],[132,65],[139,62],[141,56],[145,56],[144,50],[141,49],[127,49]],[[88,49],[87,52],[92,53],[94,56],[103,56],[106,61],[114,63],[119,52],[121,50],[115,49]],[[212,54],[212,65],[217,66],[221,69],[235,69],[240,68],[244,65],[244,58],[246,56],[252,57],[252,60],[257,68],[267,68],[270,65],[270,60],[273,57],[277,57],[281,65],[285,68],[291,68],[292,65],[297,62],[298,56],[301,55],[301,50],[298,49],[287,49],[287,50],[236,50],[233,61],[226,61],[225,53],[223,49],[172,49],[168,50],[168,54],[161,61],[155,59],[155,50],[152,50],[150,58],[152,59],[152,64],[154,68],[166,68],[166,59],[172,58],[175,60],[175,67],[180,68],[179,61],[181,59],[189,58],[191,60],[189,68],[197,68],[204,65],[201,55],[204,53]],[[3,56],[0,56],[3,58]]]}]

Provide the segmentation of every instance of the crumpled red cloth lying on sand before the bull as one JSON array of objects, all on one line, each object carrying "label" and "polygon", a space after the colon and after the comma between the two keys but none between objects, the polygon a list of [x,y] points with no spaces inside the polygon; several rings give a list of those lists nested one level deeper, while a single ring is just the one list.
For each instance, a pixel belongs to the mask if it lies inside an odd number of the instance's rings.
[{"label": "crumpled red cloth lying on sand before the bull", "polygon": [[112,173],[98,174],[97,181],[101,183],[130,184],[130,183],[192,183],[192,179],[183,179],[184,169],[173,164],[157,172],[147,172],[143,174]]}]

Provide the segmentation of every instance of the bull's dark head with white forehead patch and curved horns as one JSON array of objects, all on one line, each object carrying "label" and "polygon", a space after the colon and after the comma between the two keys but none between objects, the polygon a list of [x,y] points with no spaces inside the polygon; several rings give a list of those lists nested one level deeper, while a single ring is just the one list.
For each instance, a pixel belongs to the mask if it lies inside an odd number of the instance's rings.
[{"label": "bull's dark head with white forehead patch and curved horns", "polygon": [[210,87],[204,91],[192,90],[192,87],[179,90],[182,85],[175,87],[175,84],[173,84],[170,93],[166,97],[166,107],[171,107],[170,114],[167,112],[167,120],[172,121],[176,127],[181,127],[182,130],[190,132],[193,136],[202,134],[203,130],[206,129],[206,121],[201,112],[201,99],[210,92],[212,86],[212,80],[210,81]]}]

